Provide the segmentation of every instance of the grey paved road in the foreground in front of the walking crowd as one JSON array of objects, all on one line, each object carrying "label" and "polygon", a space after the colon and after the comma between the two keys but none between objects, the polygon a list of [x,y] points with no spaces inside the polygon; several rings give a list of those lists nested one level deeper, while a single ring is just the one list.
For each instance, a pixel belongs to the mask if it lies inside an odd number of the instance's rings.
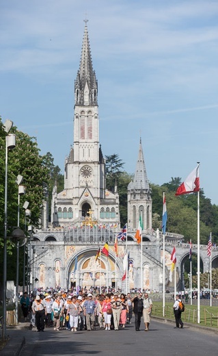
[{"label": "grey paved road in the foreground in front of the walking crowd", "polygon": [[[141,326],[142,327],[142,326]],[[19,331],[21,333],[21,331]],[[16,331],[14,330],[14,333]],[[23,330],[26,344],[22,356],[217,356],[218,336],[190,327],[174,329],[174,325],[152,320],[150,331],[135,331],[128,325],[119,331],[53,331],[44,333]]]}]

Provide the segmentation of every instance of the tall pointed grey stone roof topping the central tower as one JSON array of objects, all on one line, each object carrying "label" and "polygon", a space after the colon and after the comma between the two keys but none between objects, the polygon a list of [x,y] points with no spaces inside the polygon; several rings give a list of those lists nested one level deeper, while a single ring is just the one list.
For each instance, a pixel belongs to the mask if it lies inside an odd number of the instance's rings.
[{"label": "tall pointed grey stone roof topping the central tower", "polygon": [[[93,103],[96,104],[98,81],[96,80],[96,73],[92,66],[92,55],[89,35],[87,31],[87,20],[84,21],[85,29],[83,34],[81,60],[79,64],[79,71],[77,72],[77,79],[75,80],[75,89],[80,90],[79,103],[83,104],[83,93],[85,91],[85,86],[87,86],[90,92],[90,105],[92,105]],[[93,90],[96,90],[95,95],[92,95]]]}]

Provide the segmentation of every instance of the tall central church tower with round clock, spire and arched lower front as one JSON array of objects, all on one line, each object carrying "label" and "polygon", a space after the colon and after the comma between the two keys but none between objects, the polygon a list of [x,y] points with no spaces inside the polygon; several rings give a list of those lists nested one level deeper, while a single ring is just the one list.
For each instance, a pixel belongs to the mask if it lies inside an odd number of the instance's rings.
[{"label": "tall central church tower with round clock, spire and arched lower front", "polygon": [[98,81],[92,66],[87,20],[81,60],[74,81],[74,142],[66,158],[64,191],[53,188],[52,224],[64,226],[92,216],[119,223],[119,196],[105,187],[105,160],[99,142]]}]

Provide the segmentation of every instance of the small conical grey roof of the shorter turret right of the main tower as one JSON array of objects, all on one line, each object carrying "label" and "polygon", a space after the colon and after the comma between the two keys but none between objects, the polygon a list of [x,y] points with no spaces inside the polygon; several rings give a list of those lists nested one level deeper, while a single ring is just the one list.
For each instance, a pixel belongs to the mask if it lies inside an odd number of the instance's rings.
[{"label": "small conical grey roof of the shorter turret right of the main tower", "polygon": [[139,155],[137,159],[135,175],[133,179],[133,185],[131,189],[150,189],[148,183],[148,177],[146,173],[146,164],[144,162],[144,154],[141,146],[141,138],[139,143]]}]

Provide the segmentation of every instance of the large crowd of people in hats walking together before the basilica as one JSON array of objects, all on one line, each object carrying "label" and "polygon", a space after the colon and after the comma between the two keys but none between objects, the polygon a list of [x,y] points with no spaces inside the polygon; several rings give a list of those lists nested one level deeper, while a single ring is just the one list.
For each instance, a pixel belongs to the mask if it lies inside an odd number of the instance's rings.
[{"label": "large crowd of people in hats walking together before the basilica", "polygon": [[125,328],[135,316],[135,330],[139,331],[141,318],[144,318],[145,331],[149,330],[152,300],[147,292],[120,293],[105,292],[95,294],[79,290],[47,290],[29,298],[27,292],[21,298],[21,308],[25,321],[31,316],[30,329],[44,331],[106,331]]}]

